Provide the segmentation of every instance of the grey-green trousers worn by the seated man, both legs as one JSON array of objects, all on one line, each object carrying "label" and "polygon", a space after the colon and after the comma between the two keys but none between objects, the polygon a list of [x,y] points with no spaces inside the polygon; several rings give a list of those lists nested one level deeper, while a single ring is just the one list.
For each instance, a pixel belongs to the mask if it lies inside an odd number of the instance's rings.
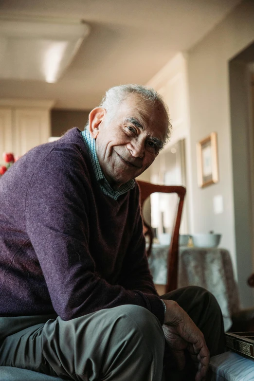
[{"label": "grey-green trousers worn by the seated man, both legs", "polygon": [[[223,351],[221,312],[208,291],[189,287],[162,298],[176,300],[189,313],[212,355]],[[191,380],[193,364],[187,359],[186,369],[178,372],[164,344],[158,319],[134,305],[102,309],[67,322],[55,316],[0,317],[1,366],[67,380],[168,381],[185,380],[186,374]]]}]

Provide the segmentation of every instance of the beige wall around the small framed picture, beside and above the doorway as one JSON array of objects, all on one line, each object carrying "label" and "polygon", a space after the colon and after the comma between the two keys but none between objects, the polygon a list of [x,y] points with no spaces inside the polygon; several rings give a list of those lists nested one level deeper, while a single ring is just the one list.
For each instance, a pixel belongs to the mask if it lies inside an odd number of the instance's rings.
[{"label": "beige wall around the small framed picture, beside and above the doorway", "polygon": [[[222,233],[221,245],[229,249],[236,269],[233,164],[231,146],[229,60],[254,40],[254,2],[244,1],[189,52],[190,145],[193,170],[192,195],[196,232]],[[219,178],[217,184],[197,185],[196,143],[212,131],[218,133]],[[242,184],[245,186],[245,184]],[[224,212],[213,213],[213,197],[222,195]],[[238,261],[244,260],[237,253]],[[251,255],[251,253],[250,253]],[[246,263],[248,267],[249,262]],[[249,273],[252,272],[248,268]],[[253,305],[245,274],[238,272],[240,299]]]}]

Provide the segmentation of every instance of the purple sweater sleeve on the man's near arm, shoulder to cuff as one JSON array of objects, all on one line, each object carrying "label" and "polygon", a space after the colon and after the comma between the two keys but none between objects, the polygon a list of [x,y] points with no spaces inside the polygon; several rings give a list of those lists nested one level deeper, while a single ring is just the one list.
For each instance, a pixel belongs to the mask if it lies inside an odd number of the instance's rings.
[{"label": "purple sweater sleeve on the man's near arm, shoulder to cuff", "polygon": [[163,323],[157,295],[111,285],[95,270],[89,252],[88,181],[82,155],[57,148],[40,163],[27,191],[26,229],[56,313],[63,320],[102,308],[134,304]]}]

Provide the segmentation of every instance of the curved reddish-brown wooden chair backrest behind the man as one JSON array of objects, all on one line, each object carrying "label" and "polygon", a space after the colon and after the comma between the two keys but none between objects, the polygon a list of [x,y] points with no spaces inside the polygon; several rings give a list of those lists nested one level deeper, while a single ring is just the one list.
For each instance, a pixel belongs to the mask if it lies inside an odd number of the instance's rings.
[{"label": "curved reddish-brown wooden chair backrest behind the man", "polygon": [[[183,201],[186,194],[186,188],[184,186],[175,186],[175,185],[156,185],[151,184],[145,181],[137,181],[140,187],[140,206],[141,211],[143,211],[143,205],[147,197],[149,197],[152,193],[160,192],[160,193],[177,193],[178,195],[178,205],[176,209],[176,215],[173,224],[171,243],[169,246],[168,256],[167,256],[167,284],[166,284],[166,292],[176,290],[177,289],[177,276],[178,276],[178,249],[179,249],[179,229],[181,224],[181,215],[183,208]],[[150,239],[149,248],[151,250],[152,246],[152,230],[151,227],[145,222],[144,225],[148,230],[148,236]],[[149,253],[148,248],[148,253]]]}]

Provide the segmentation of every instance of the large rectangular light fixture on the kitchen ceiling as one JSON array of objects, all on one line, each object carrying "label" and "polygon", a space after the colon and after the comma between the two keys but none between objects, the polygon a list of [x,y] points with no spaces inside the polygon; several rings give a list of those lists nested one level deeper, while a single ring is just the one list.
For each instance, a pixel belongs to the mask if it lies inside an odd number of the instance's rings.
[{"label": "large rectangular light fixture on the kitchen ceiling", "polygon": [[56,82],[89,33],[83,21],[0,18],[0,78]]}]

